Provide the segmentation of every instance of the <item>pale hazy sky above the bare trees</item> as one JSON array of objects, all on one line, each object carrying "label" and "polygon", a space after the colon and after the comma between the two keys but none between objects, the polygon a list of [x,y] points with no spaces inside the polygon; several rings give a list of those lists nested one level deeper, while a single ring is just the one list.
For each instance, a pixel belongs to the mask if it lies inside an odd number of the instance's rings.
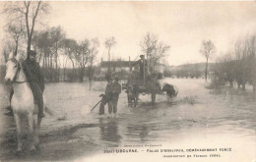
[{"label": "pale hazy sky above the bare trees", "polygon": [[[234,41],[256,29],[256,2],[49,2],[46,27],[62,27],[78,41],[99,39],[97,60],[107,59],[104,40],[114,36],[112,58],[134,60],[143,54],[140,42],[147,32],[170,46],[169,65],[205,62],[202,40],[212,40],[212,61],[233,47]],[[1,5],[2,6],[2,5]],[[0,18],[1,26],[4,20]],[[38,25],[39,26],[39,25]],[[43,27],[38,27],[43,28]],[[45,26],[44,26],[45,27]],[[36,29],[36,28],[35,28]],[[0,32],[2,40],[3,32]]]}]

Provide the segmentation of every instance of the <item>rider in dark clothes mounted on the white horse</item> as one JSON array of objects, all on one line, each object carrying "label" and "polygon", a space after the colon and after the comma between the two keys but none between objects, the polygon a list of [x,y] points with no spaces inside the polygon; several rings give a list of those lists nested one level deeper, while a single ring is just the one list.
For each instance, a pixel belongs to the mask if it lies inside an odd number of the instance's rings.
[{"label": "rider in dark clothes mounted on the white horse", "polygon": [[29,56],[23,62],[24,73],[32,88],[34,103],[38,105],[38,117],[43,118],[43,90],[44,77],[40,70],[39,64],[35,61],[36,52],[31,50]]}]

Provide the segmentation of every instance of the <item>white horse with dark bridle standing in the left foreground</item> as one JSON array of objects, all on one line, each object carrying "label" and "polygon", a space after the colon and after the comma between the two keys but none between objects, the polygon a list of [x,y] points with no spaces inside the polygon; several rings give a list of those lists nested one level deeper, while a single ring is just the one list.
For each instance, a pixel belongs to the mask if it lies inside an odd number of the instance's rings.
[{"label": "white horse with dark bridle standing in the left foreground", "polygon": [[26,79],[22,64],[20,63],[18,56],[14,57],[13,53],[9,55],[9,60],[6,64],[5,81],[11,81],[14,89],[11,107],[13,109],[17,127],[17,151],[22,151],[22,116],[27,116],[29,118],[30,139],[32,139],[31,150],[35,150],[35,148],[38,148],[39,146],[38,132],[40,129],[41,118],[37,118],[38,106],[33,102],[32,89]]}]

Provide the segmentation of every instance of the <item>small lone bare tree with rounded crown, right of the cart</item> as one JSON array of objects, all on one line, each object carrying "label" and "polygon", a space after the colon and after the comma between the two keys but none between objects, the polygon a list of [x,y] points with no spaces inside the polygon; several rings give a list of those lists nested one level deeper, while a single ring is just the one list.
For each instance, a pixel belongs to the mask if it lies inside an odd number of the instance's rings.
[{"label": "small lone bare tree with rounded crown, right of the cart", "polygon": [[205,80],[207,81],[207,74],[208,74],[208,62],[209,59],[214,55],[216,52],[215,44],[211,40],[203,40],[200,52],[203,56],[206,57],[206,71],[205,71]]}]

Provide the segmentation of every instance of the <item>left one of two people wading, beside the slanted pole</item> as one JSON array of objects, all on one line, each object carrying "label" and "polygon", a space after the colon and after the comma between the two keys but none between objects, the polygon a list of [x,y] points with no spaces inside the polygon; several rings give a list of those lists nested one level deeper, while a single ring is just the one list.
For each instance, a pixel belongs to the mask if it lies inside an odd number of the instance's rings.
[{"label": "left one of two people wading, beside the slanted pole", "polygon": [[107,79],[107,84],[105,86],[105,93],[104,94],[100,94],[99,96],[102,97],[101,98],[101,103],[99,106],[99,112],[98,115],[102,115],[104,114],[104,106],[107,104],[108,109],[112,107],[112,78],[108,77]]}]

